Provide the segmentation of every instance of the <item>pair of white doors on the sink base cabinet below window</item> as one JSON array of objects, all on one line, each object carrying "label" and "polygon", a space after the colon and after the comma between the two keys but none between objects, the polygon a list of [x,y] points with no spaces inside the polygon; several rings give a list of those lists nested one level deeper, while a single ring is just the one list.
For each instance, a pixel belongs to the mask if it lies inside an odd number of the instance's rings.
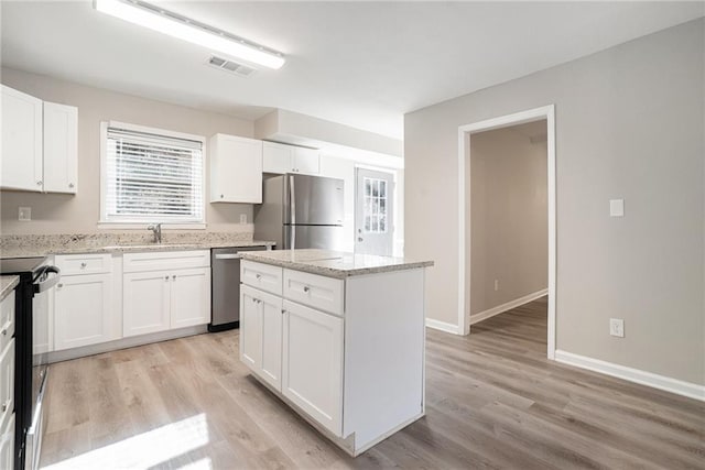
[{"label": "pair of white doors on the sink base cabinet below window", "polygon": [[207,324],[210,269],[126,273],[122,315],[126,337]]}]

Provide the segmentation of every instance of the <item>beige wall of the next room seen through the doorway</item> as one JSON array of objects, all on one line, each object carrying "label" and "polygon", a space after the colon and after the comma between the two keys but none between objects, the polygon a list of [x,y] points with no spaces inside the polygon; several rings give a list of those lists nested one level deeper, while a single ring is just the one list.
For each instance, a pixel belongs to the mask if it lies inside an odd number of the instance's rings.
[{"label": "beige wall of the next room seen through the doorway", "polygon": [[545,134],[541,120],[470,135],[470,315],[549,285]]}]

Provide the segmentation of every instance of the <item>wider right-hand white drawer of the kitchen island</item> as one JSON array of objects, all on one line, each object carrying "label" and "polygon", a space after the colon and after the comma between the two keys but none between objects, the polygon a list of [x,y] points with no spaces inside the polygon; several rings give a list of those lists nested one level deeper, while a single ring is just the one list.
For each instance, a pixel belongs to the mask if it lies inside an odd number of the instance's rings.
[{"label": "wider right-hand white drawer of the kitchen island", "polygon": [[284,298],[343,315],[343,280],[284,270]]}]

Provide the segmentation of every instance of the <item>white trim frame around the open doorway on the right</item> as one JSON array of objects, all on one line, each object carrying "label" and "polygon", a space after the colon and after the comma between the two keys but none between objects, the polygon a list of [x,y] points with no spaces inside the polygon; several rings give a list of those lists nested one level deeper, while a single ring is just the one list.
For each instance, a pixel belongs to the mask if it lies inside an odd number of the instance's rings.
[{"label": "white trim frame around the open doorway on the right", "polygon": [[[546,120],[547,132],[547,195],[549,195],[549,318],[546,356],[555,359],[555,305],[556,305],[556,155],[555,155],[555,105],[534,108],[513,114],[501,116],[473,124],[458,127],[458,331],[462,335],[470,332],[470,289],[466,280],[470,278],[470,245],[471,220],[466,215],[467,195],[469,194],[469,159],[470,136],[476,132],[490,131],[525,122]],[[467,210],[467,212],[466,212]]]}]

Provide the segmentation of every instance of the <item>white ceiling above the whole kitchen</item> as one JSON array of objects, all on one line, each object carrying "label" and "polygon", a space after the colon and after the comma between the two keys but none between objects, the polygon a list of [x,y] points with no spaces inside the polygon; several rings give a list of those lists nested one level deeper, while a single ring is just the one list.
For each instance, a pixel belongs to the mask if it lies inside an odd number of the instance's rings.
[{"label": "white ceiling above the whole kitchen", "polygon": [[90,1],[2,1],[2,65],[257,119],[401,139],[403,114],[702,17],[703,2],[156,2],[288,56],[241,78]]}]

